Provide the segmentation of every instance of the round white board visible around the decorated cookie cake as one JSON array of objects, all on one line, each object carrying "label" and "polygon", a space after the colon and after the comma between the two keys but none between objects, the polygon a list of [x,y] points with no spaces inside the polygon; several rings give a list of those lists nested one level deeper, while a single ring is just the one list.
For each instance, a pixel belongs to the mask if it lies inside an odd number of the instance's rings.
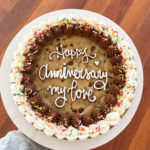
[{"label": "round white board visible around the decorated cookie cake", "polygon": [[[20,43],[23,40],[24,35],[30,31],[30,29],[33,26],[36,26],[41,21],[46,21],[47,19],[50,19],[54,16],[59,16],[62,14],[74,14],[74,15],[87,15],[92,17],[96,17],[99,20],[103,20],[104,22],[108,23],[109,25],[116,27],[117,30],[120,32],[120,34],[125,38],[125,40],[128,41],[128,43],[131,46],[131,49],[134,53],[136,64],[137,64],[137,71],[138,71],[138,84],[136,89],[136,94],[134,97],[134,100],[132,102],[132,105],[130,109],[127,111],[127,113],[123,116],[120,123],[114,126],[110,131],[108,131],[106,134],[101,135],[99,137],[93,138],[93,139],[87,139],[84,141],[67,141],[67,140],[58,140],[55,137],[48,137],[43,132],[37,131],[35,127],[33,127],[30,123],[28,123],[23,115],[17,110],[17,106],[14,104],[14,101],[12,99],[12,95],[10,93],[10,81],[9,81],[9,75],[10,75],[10,66],[11,62],[13,60],[13,52],[17,49],[18,43]],[[137,107],[139,105],[142,90],[143,90],[143,68],[141,64],[141,60],[139,57],[139,54],[137,52],[137,49],[135,45],[133,44],[132,40],[129,38],[129,36],[121,29],[117,24],[115,24],[113,21],[109,20],[108,18],[86,10],[78,10],[78,9],[65,9],[65,10],[58,10],[54,11],[48,14],[45,14],[32,22],[30,22],[28,25],[26,25],[10,42],[6,53],[3,57],[1,70],[0,70],[0,88],[1,88],[1,96],[3,99],[4,106],[14,122],[14,124],[18,127],[19,130],[21,130],[26,136],[31,138],[33,141],[39,143],[40,145],[43,145],[48,148],[57,149],[57,150],[87,150],[92,149],[98,146],[101,146],[108,141],[112,140],[114,137],[116,137],[124,128],[129,124],[131,119],[133,118]]]}]

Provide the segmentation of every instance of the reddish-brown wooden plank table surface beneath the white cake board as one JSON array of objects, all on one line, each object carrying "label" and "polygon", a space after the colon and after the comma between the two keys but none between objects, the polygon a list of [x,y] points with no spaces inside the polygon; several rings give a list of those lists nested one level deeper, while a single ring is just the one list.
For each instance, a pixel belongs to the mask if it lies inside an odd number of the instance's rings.
[{"label": "reddish-brown wooden plank table surface beneath the white cake board", "polygon": [[[119,24],[135,43],[144,69],[144,91],[131,123],[115,139],[95,150],[150,149],[150,1],[149,0],[0,0],[0,62],[16,33],[50,11],[78,8],[100,13]],[[0,99],[0,137],[17,129]],[[82,148],[81,148],[82,150]]]}]

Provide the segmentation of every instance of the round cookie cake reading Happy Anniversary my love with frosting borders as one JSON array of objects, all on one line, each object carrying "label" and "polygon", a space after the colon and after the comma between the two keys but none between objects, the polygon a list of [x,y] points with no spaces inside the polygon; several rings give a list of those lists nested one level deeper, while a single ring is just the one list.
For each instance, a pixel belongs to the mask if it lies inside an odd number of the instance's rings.
[{"label": "round cookie cake reading Happy Anniversary my love with frosting borders", "polygon": [[33,27],[11,65],[11,93],[26,120],[48,136],[106,133],[130,107],[137,81],[130,45],[103,21],[60,16]]}]

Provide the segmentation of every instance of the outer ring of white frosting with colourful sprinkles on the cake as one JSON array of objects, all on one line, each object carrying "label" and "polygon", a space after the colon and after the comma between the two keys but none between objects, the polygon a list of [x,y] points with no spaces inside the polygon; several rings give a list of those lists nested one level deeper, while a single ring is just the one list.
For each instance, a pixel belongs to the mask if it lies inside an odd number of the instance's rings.
[{"label": "outer ring of white frosting with colourful sprinkles on the cake", "polygon": [[[73,127],[65,128],[64,126],[57,126],[55,123],[49,123],[46,120],[42,120],[38,117],[38,113],[32,111],[29,104],[26,103],[26,96],[22,95],[21,89],[23,86],[21,85],[22,74],[18,72],[19,69],[23,68],[23,61],[25,57],[23,54],[27,52],[27,48],[25,45],[29,40],[35,40],[33,37],[34,31],[38,29],[38,32],[41,32],[43,29],[46,29],[45,24],[56,25],[62,18],[67,18],[71,22],[74,22],[72,18],[77,19],[81,24],[84,22],[88,22],[96,27],[97,30],[103,30],[105,35],[110,35],[112,41],[117,43],[117,46],[120,50],[122,50],[122,56],[126,60],[125,61],[125,69],[126,69],[126,85],[122,90],[123,95],[119,97],[119,105],[115,106],[112,109],[112,112],[106,115],[104,120],[97,122],[96,124],[91,124],[89,127],[81,126],[78,129]],[[15,103],[18,105],[18,110],[25,115],[26,120],[32,123],[37,129],[43,130],[45,134],[48,136],[55,135],[58,139],[68,139],[75,140],[77,138],[83,140],[88,137],[95,137],[100,134],[106,133],[111,126],[116,125],[121,120],[121,116],[125,113],[125,111],[130,107],[132,103],[132,99],[135,94],[135,86],[137,83],[137,71],[133,53],[130,49],[130,45],[123,39],[123,37],[118,33],[118,31],[109,26],[103,21],[97,21],[96,18],[89,18],[87,16],[60,16],[58,18],[53,18],[48,20],[47,22],[41,22],[38,27],[33,27],[31,33],[27,34],[24,37],[24,41],[21,42],[18,46],[18,50],[14,52],[14,61],[11,64],[11,93],[13,94],[13,99]]]}]

